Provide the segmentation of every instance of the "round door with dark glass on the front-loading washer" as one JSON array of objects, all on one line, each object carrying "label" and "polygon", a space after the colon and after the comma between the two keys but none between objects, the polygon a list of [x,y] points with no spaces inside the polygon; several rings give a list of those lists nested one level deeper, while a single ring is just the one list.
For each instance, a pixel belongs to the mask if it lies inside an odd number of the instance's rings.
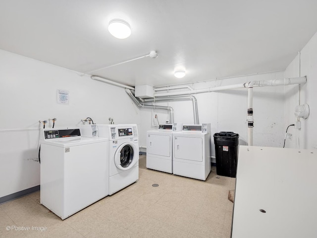
[{"label": "round door with dark glass on the front-loading washer", "polygon": [[133,143],[123,143],[115,153],[114,163],[118,169],[128,170],[138,162],[138,158],[138,148]]}]

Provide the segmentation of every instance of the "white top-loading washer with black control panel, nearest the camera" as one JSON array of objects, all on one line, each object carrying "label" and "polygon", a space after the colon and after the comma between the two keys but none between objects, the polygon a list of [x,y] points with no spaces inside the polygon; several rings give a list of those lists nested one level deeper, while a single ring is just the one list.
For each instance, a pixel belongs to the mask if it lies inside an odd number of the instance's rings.
[{"label": "white top-loading washer with black control panel, nearest the camera", "polygon": [[108,195],[108,139],[42,129],[40,203],[62,220]]}]

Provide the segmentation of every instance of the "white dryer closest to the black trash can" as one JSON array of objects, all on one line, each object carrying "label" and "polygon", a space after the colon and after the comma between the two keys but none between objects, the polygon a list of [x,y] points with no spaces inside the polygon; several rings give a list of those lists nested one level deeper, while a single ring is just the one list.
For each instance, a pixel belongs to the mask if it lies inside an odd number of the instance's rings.
[{"label": "white dryer closest to the black trash can", "polygon": [[183,125],[173,133],[173,174],[206,180],[211,172],[211,124]]}]

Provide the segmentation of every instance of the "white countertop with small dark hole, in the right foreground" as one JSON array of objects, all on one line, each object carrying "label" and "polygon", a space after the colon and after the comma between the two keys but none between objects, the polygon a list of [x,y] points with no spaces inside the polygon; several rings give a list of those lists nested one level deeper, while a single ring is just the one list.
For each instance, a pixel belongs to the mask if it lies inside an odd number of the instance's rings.
[{"label": "white countertop with small dark hole, in the right foreground", "polygon": [[316,150],[239,146],[232,238],[316,238],[316,222]]}]

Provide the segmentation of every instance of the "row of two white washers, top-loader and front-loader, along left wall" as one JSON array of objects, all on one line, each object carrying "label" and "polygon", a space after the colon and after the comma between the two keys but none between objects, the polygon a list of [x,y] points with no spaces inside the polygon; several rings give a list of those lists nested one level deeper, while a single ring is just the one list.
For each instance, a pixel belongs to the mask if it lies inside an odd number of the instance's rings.
[{"label": "row of two white washers, top-loader and front-loader, along left wall", "polygon": [[136,124],[43,129],[40,146],[40,203],[62,220],[139,177]]}]

